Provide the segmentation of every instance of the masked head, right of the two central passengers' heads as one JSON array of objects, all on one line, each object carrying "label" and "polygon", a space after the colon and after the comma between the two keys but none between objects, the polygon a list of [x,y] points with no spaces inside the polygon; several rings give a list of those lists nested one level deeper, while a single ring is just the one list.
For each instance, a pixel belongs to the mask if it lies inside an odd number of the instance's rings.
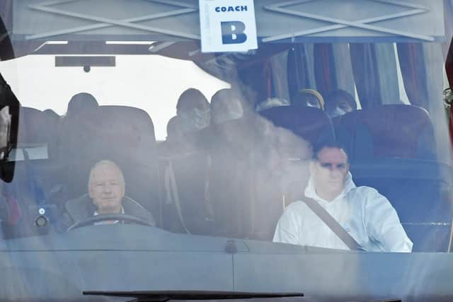
[{"label": "masked head, right of the two central passengers' heads", "polygon": [[211,98],[211,121],[222,124],[229,120],[238,120],[243,116],[241,99],[232,89],[222,89]]}]

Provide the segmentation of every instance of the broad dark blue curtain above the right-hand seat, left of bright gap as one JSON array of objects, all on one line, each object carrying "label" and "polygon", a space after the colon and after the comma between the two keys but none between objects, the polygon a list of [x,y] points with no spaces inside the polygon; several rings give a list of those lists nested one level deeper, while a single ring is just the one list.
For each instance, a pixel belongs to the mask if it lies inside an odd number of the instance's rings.
[{"label": "broad dark blue curtain above the right-hand seat, left of bright gap", "polygon": [[350,57],[362,108],[401,103],[392,43],[352,43]]}]

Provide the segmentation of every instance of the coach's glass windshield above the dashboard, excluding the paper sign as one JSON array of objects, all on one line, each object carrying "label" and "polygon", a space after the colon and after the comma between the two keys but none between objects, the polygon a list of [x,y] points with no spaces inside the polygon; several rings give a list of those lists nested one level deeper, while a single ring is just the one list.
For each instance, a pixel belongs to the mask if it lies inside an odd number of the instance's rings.
[{"label": "coach's glass windshield above the dashboard, excluding the paper sign", "polygon": [[[418,4],[376,1],[389,22],[380,27],[341,9],[306,19],[333,1],[263,1],[258,49],[202,52],[181,27],[199,21],[196,1],[132,2],[2,6],[12,32],[0,71],[21,103],[17,141],[2,146],[13,173],[1,184],[4,239],[139,223],[337,250],[449,250],[442,5],[430,5],[442,20],[428,33],[397,18]],[[287,33],[266,27],[275,12],[334,25]]]}]

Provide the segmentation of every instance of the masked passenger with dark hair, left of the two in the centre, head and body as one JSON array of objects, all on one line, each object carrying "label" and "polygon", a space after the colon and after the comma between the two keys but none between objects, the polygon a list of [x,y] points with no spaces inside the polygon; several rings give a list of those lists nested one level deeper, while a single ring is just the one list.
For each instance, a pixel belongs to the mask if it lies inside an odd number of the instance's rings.
[{"label": "masked passenger with dark hair, left of the two in the centre, head and body", "polygon": [[161,163],[166,164],[164,187],[168,201],[164,211],[176,212],[164,226],[176,232],[207,235],[212,231],[207,198],[210,103],[200,91],[189,88],[180,95],[176,114],[168,124],[166,144],[159,154]]}]

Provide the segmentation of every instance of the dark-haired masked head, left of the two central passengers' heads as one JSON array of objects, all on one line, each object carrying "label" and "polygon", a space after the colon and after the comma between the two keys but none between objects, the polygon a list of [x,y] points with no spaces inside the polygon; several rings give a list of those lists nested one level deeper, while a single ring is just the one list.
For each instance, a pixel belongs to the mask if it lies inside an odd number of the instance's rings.
[{"label": "dark-haired masked head, left of the two central passengers' heads", "polygon": [[189,88],[180,95],[176,114],[180,117],[183,133],[195,132],[210,125],[210,103],[195,88]]}]

